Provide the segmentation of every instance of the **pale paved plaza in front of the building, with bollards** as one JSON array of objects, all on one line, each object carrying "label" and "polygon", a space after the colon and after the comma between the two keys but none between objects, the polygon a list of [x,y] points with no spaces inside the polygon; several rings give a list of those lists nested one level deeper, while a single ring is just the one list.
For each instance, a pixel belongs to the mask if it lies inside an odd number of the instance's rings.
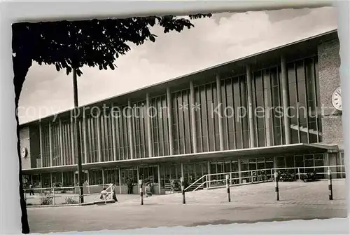
[{"label": "pale paved plaza in front of the building, with bollards", "polygon": [[328,200],[328,182],[280,182],[276,202],[274,183],[144,198],[118,195],[118,203],[95,206],[28,208],[32,233],[100,231],[140,227],[197,226],[235,222],[346,217],[345,180],[333,180],[333,201]]}]

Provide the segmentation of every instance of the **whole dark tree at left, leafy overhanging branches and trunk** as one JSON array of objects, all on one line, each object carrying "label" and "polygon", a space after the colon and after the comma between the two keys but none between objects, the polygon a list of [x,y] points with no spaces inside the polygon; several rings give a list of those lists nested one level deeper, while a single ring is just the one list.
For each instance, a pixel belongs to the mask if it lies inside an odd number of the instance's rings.
[{"label": "whole dark tree at left, leafy overhanging branches and trunk", "polygon": [[[189,15],[190,20],[211,17],[211,14]],[[39,65],[55,65],[57,71],[66,69],[66,74],[76,69],[83,74],[81,67],[98,66],[99,69],[115,69],[113,62],[130,51],[127,43],[141,45],[145,41],[155,42],[157,35],[151,28],[160,25],[164,33],[194,25],[190,20],[174,15],[162,17],[133,17],[125,19],[77,20],[59,22],[21,22],[13,28],[13,72],[15,84],[15,108],[18,110],[20,92],[25,76],[33,61]],[[16,115],[18,122],[18,115]],[[19,128],[17,131],[19,138]],[[27,208],[22,185],[22,164],[20,142],[18,141],[18,159],[20,162],[20,205],[22,210],[22,233],[29,233]]]}]

